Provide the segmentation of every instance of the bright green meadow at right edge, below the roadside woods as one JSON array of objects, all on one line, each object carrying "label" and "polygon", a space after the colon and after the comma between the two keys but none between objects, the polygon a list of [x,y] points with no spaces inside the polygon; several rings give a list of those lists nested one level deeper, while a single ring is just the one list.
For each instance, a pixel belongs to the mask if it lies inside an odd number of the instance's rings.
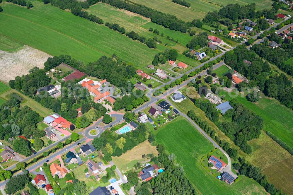
[{"label": "bright green meadow at right edge, below the roadside woods", "polygon": [[[228,93],[221,90],[220,95],[226,95],[225,99],[232,99]],[[235,91],[231,92],[235,95]],[[234,96],[245,107],[253,110],[256,114],[260,115],[264,121],[264,131],[271,131],[275,136],[282,141],[293,147],[293,111],[280,104],[279,101],[273,98],[267,98],[261,94],[260,100],[257,103],[249,102],[241,94]]]}]

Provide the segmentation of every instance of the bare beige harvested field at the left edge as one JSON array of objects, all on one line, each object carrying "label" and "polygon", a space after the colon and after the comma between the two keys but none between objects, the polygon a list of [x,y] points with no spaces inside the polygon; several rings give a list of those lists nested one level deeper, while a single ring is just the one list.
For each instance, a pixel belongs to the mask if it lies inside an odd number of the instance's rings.
[{"label": "bare beige harvested field at the left edge", "polygon": [[35,66],[44,68],[44,62],[48,57],[49,54],[26,45],[15,52],[0,50],[0,80],[8,83],[16,76],[28,74]]}]

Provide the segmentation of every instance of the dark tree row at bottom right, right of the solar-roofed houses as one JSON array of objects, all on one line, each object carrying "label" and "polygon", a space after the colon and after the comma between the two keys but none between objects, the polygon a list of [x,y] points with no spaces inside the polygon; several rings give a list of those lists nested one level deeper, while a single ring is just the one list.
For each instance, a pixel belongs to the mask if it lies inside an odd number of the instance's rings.
[{"label": "dark tree row at bottom right, right of the solar-roofed houses", "polygon": [[233,168],[238,170],[240,175],[245,175],[257,181],[269,194],[282,195],[282,190],[277,190],[274,184],[268,182],[267,176],[262,175],[260,167],[255,167],[239,157],[239,163],[233,163]]}]

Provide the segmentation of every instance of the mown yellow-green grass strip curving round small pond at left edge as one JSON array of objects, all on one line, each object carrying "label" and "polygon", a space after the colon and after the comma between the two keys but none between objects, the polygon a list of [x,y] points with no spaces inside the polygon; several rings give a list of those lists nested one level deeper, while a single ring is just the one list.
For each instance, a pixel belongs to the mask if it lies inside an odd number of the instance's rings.
[{"label": "mown yellow-green grass strip curving round small pond at left edge", "polygon": [[[1,15],[0,15],[1,18]],[[11,93],[17,93],[18,95],[20,95],[24,101],[23,103],[21,103],[21,106],[28,106],[30,107],[32,110],[38,112],[40,114],[41,117],[47,117],[50,113],[52,113],[52,110],[49,110],[45,107],[42,107],[42,105],[40,105],[38,102],[36,102],[35,100],[19,93],[17,90],[15,89],[11,89],[6,91],[5,93],[2,93],[0,95],[1,98],[8,100],[8,98],[6,97],[7,95],[11,94]]]}]

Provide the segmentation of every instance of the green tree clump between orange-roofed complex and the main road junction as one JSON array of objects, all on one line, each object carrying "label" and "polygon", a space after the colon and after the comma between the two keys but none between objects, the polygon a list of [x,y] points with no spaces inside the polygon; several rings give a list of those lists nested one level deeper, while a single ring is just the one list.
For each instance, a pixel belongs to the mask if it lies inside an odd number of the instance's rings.
[{"label": "green tree clump between orange-roofed complex and the main road junction", "polygon": [[130,95],[124,95],[122,98],[117,98],[114,102],[114,110],[125,108],[125,111],[131,111],[133,108],[137,108],[139,105],[148,101],[149,97],[144,95],[144,91],[136,90]]}]

